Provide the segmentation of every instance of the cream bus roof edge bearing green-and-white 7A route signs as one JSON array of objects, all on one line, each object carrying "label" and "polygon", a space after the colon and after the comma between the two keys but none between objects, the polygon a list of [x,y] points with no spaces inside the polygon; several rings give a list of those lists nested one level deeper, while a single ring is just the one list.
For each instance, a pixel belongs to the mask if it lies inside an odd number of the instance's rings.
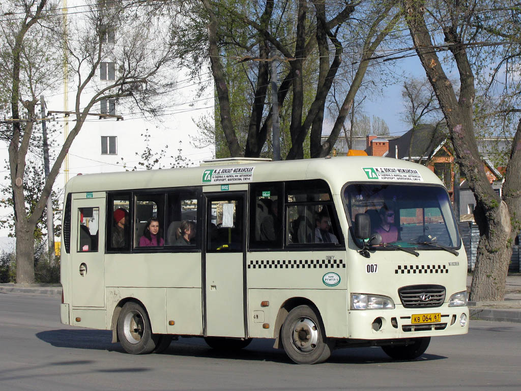
[{"label": "cream bus roof edge bearing green-and-white 7A route signs", "polygon": [[73,177],[67,192],[152,189],[282,180],[324,179],[332,193],[346,182],[398,182],[442,185],[427,167],[390,157],[338,156],[281,162],[88,174]]}]

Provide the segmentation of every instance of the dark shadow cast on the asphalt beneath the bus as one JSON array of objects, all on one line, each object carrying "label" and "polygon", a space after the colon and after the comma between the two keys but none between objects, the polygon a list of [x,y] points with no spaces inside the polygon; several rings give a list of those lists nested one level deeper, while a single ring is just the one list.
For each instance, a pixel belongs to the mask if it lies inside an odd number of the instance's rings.
[{"label": "dark shadow cast on the asphalt beneath the bus", "polygon": [[[111,332],[106,330],[60,329],[37,333],[36,337],[59,348],[106,350],[126,354],[121,345],[111,343]],[[274,349],[272,346],[272,339],[254,339],[246,349],[222,351],[210,348],[203,338],[179,338],[178,341],[172,341],[168,349],[161,355],[293,364],[284,350]],[[414,361],[428,362],[445,358],[444,356],[426,353]],[[345,348],[335,350],[327,362],[336,364],[382,364],[396,362],[396,360],[390,359],[380,348]],[[107,372],[110,371],[112,370],[107,370]],[[125,370],[115,371],[124,372]]]}]

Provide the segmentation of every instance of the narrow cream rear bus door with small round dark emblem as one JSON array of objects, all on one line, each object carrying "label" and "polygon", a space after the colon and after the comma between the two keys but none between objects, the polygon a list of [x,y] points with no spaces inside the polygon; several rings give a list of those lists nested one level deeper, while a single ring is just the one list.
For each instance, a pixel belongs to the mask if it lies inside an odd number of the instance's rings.
[{"label": "narrow cream rear bus door with small round dark emblem", "polygon": [[[90,193],[92,195],[92,193]],[[105,306],[105,198],[72,200],[72,306]]]}]

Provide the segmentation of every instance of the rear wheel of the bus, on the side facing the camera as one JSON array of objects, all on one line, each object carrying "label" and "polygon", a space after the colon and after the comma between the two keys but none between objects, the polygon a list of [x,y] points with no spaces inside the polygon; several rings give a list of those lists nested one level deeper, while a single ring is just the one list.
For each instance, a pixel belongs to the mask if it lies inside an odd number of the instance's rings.
[{"label": "rear wheel of the bus, on the side facing the camera", "polygon": [[140,304],[125,303],[118,317],[118,338],[121,346],[132,355],[146,355],[154,351],[159,335],[152,334],[150,320]]}]

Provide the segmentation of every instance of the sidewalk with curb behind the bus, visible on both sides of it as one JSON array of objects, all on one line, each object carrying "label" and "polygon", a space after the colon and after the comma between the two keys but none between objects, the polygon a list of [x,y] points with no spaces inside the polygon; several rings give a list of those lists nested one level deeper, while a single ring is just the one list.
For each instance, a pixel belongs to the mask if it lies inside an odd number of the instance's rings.
[{"label": "sidewalk with curb behind the bus, visible on both sides of it", "polygon": [[[467,276],[467,288],[470,288],[472,276]],[[14,292],[33,295],[61,295],[61,286],[50,284],[0,284],[1,292]],[[468,302],[470,319],[483,321],[521,323],[521,274],[506,277],[504,301]]]}]

